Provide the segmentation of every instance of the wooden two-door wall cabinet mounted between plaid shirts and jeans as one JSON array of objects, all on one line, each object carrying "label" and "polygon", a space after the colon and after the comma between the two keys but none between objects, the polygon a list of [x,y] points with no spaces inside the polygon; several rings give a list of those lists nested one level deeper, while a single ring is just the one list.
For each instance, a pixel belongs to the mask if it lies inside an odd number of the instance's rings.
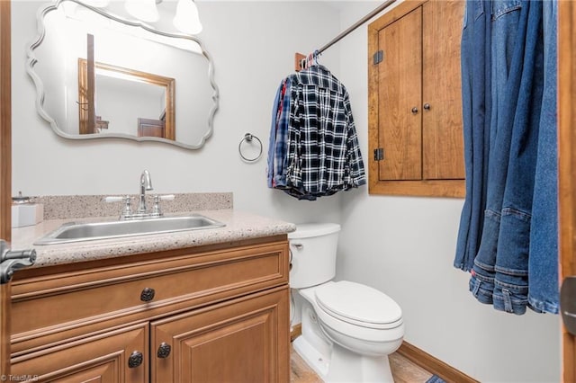
[{"label": "wooden two-door wall cabinet mounted between plaid shirts and jeans", "polygon": [[368,26],[371,194],[464,197],[463,16],[406,0]]}]

